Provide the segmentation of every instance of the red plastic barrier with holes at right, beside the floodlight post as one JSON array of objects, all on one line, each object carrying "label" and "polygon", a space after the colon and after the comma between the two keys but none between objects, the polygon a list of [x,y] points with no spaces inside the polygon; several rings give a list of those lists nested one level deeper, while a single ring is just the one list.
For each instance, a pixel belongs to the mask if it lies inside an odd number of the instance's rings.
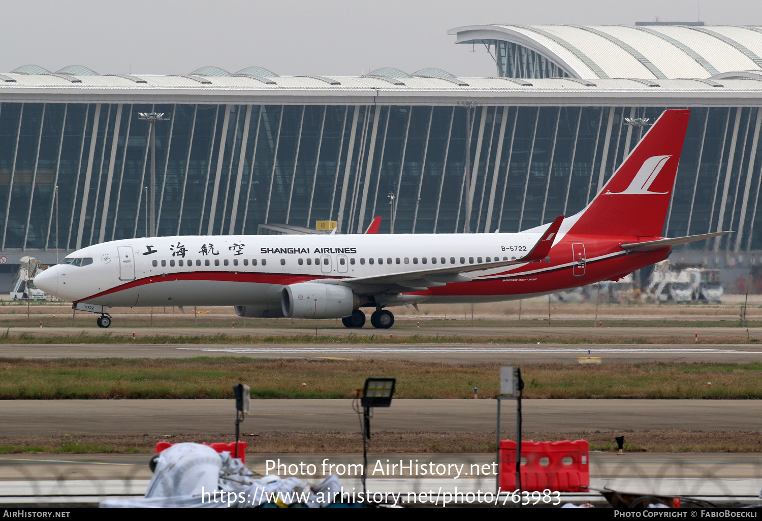
[{"label": "red plastic barrier with holes at right, beside the floodlight post", "polygon": [[[587,492],[590,486],[590,444],[584,439],[559,442],[521,442],[522,491]],[[543,461],[541,461],[543,459]],[[564,459],[566,461],[564,462]],[[516,490],[516,442],[500,442],[499,486]]]}]

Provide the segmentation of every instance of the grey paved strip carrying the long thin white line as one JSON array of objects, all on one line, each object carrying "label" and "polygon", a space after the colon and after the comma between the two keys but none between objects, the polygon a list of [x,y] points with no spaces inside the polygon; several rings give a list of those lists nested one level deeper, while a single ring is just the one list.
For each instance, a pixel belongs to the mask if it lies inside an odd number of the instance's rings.
[{"label": "grey paved strip carrying the long thin white line", "polygon": [[[590,353],[588,353],[588,350]],[[604,363],[762,361],[757,344],[0,344],[0,357],[20,358],[376,358],[446,363]]]}]

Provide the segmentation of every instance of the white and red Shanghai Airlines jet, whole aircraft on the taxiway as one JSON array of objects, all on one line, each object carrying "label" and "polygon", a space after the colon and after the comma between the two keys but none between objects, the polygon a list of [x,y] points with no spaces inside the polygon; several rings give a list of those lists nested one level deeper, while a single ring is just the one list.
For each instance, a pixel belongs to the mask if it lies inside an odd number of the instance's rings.
[{"label": "white and red Shanghai Airlines jet, whole aircraft on the taxiway", "polygon": [[389,307],[547,295],[667,258],[715,232],[662,238],[689,110],[666,110],[581,212],[519,233],[222,235],[88,246],[35,285],[98,313],[110,307],[232,305],[242,317],[342,318],[390,328]]}]

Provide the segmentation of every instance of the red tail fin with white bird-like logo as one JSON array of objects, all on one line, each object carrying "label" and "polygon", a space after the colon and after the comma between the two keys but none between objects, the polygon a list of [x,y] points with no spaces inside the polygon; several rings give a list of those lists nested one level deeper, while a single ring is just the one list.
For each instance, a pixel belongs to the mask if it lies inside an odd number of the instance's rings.
[{"label": "red tail fin with white bird-like logo", "polygon": [[690,110],[664,110],[570,233],[661,237]]}]

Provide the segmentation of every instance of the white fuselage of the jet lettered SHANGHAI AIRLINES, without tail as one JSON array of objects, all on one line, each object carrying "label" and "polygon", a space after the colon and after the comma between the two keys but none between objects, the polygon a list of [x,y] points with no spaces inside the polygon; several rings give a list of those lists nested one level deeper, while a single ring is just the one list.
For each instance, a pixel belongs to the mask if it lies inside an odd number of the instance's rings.
[{"label": "white fuselage of the jet lettered SHANGHAI AIRLINES, without tail", "polygon": [[[291,283],[510,260],[526,254],[538,237],[539,232],[533,230],[515,234],[134,238],[75,251],[64,261],[69,264],[51,267],[36,283],[69,302],[109,307],[280,306],[280,292]],[[479,273],[488,276],[506,270]],[[478,300],[478,296],[463,295],[451,299]],[[493,295],[485,300],[497,299]]]}]

